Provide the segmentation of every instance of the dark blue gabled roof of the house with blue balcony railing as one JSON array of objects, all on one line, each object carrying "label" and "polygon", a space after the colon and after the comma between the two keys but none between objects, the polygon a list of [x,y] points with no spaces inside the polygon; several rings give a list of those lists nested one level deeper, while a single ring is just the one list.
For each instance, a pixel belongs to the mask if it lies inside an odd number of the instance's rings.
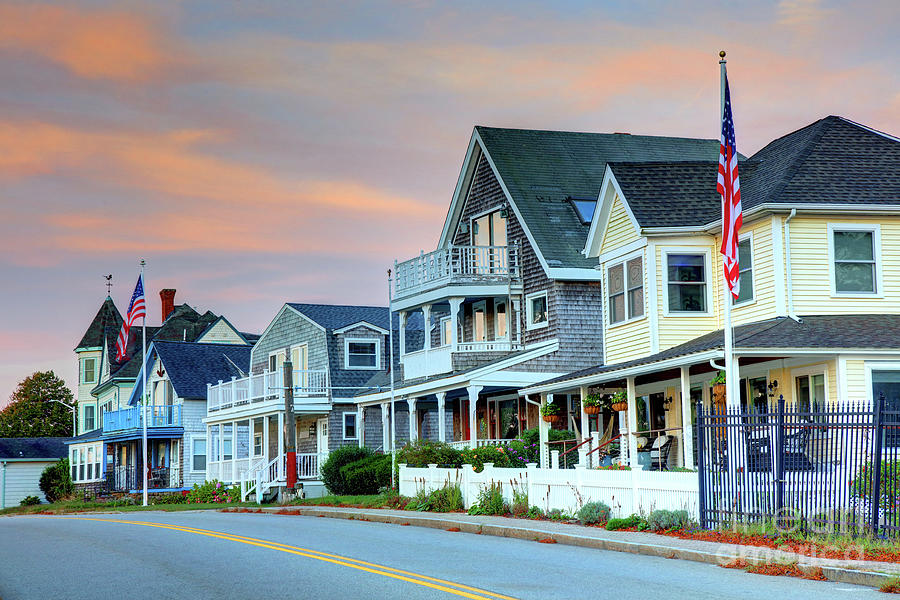
[{"label": "dark blue gabled roof of the house with blue balcony railing", "polygon": [[159,356],[179,397],[205,400],[206,384],[247,376],[250,350],[251,346],[239,344],[155,341],[152,352]]}]

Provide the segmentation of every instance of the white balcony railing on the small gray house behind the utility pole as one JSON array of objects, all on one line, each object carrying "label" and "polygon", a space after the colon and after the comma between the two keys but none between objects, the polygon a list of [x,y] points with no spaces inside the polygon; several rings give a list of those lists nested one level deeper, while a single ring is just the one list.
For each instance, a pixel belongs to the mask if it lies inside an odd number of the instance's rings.
[{"label": "white balcony railing on the small gray house behind the utility pole", "polygon": [[[327,398],[328,371],[294,370],[294,398]],[[212,412],[264,400],[284,399],[282,371],[264,371],[249,377],[220,381],[207,388],[206,408]]]}]

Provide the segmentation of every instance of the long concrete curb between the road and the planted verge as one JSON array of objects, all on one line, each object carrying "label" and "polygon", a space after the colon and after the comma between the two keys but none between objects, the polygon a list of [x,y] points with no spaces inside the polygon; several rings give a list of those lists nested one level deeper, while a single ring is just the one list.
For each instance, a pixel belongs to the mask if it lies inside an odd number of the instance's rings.
[{"label": "long concrete curb between the road and the planted verge", "polygon": [[[707,563],[712,565],[725,565],[735,559],[745,560],[748,564],[759,565],[766,564],[769,560],[766,557],[759,556],[758,548],[752,546],[741,547],[741,552],[708,552],[692,548],[683,548],[666,544],[653,544],[647,542],[631,542],[625,540],[604,539],[599,537],[578,535],[577,533],[561,533],[559,531],[551,531],[541,529],[539,527],[520,527],[515,525],[495,525],[492,523],[480,523],[477,521],[466,520],[465,518],[447,519],[439,516],[424,516],[421,514],[397,515],[390,513],[375,512],[374,509],[366,509],[365,512],[353,509],[329,508],[321,509],[318,507],[308,506],[283,506],[279,508],[263,508],[262,512],[278,514],[293,514],[306,517],[328,517],[331,519],[346,519],[350,521],[370,521],[374,523],[386,523],[393,525],[409,525],[414,527],[429,527],[431,529],[453,529],[461,533],[472,533],[476,535],[492,535],[496,537],[508,537],[527,541],[540,541],[547,538],[552,539],[555,543],[566,544],[569,546],[581,546],[584,548],[595,548],[597,550],[610,550],[613,552],[630,552],[632,554],[642,554],[645,556],[656,556],[659,558],[674,558],[679,560],[690,560],[693,562]],[[290,512],[284,512],[290,511]],[[775,551],[781,553],[786,558],[794,555],[787,552]],[[756,555],[755,555],[756,554]],[[814,569],[821,569],[822,575],[831,581],[838,583],[848,583],[853,585],[863,585],[868,587],[881,587],[892,577],[897,574],[889,574],[879,571],[868,571],[856,568],[841,567],[834,565],[822,564],[816,559],[800,557],[797,566],[809,572]]]}]

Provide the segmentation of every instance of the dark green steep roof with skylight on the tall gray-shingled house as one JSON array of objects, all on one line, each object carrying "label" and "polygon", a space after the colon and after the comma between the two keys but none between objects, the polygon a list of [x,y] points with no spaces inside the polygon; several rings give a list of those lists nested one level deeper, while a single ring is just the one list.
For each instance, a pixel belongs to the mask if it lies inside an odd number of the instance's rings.
[{"label": "dark green steep roof with skylight on the tall gray-shingled house", "polygon": [[597,198],[609,162],[714,161],[718,140],[500,129],[476,132],[550,267],[593,268],[588,227],[568,198]]}]

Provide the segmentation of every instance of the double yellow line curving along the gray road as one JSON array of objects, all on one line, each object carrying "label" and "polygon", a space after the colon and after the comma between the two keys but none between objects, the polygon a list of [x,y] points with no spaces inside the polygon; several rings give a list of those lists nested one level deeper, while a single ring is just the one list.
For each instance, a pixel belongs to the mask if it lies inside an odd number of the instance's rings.
[{"label": "double yellow line curving along the gray road", "polygon": [[[241,536],[237,534],[224,533],[221,531],[211,531],[208,529],[197,529],[194,527],[186,527],[183,525],[170,525],[166,523],[152,523],[148,521],[126,521],[124,519],[99,519],[95,517],[69,517],[73,519],[78,519],[82,521],[100,521],[105,523],[123,523],[128,525],[144,525],[146,527],[157,527],[160,529],[170,529],[173,531],[182,531],[184,533],[195,533],[197,535],[204,535],[207,537],[214,537],[234,542],[240,542],[242,544],[248,544],[250,546],[258,546],[262,548],[269,548],[271,550],[279,550],[281,552],[286,552],[288,554],[296,554],[298,556],[304,556],[307,558],[313,558],[316,560],[321,560],[324,562],[329,562],[345,567],[350,567],[351,569],[358,569],[360,571],[365,571],[368,573],[373,573],[376,575],[383,575],[384,577],[390,577],[393,579],[398,579],[400,581],[406,581],[408,583],[415,583],[418,585],[422,585],[425,587],[433,588],[436,590],[440,590],[443,592],[447,592],[449,594],[454,594],[456,596],[462,596],[464,598],[472,598],[474,600],[516,600],[510,596],[504,596],[502,594],[497,594],[494,592],[489,592],[487,590],[482,590],[479,588],[467,586],[460,583],[455,583],[452,581],[446,581],[444,579],[438,579],[435,577],[429,577],[427,575],[420,575],[418,573],[412,573],[410,571],[403,571],[401,569],[394,569],[392,567],[386,567],[384,565],[379,565],[376,563],[370,563],[362,560],[357,560],[355,558],[348,558],[345,556],[340,556],[337,554],[328,554],[326,552],[320,552],[318,550],[310,550],[308,548],[300,548],[298,546],[289,546],[287,544],[281,544],[278,542],[271,542],[268,540],[260,540],[257,538],[251,538],[246,536]],[[433,583],[432,583],[433,582]],[[454,587],[447,587],[454,586]],[[474,593],[469,593],[474,592]],[[481,594],[481,595],[478,595]]]}]

